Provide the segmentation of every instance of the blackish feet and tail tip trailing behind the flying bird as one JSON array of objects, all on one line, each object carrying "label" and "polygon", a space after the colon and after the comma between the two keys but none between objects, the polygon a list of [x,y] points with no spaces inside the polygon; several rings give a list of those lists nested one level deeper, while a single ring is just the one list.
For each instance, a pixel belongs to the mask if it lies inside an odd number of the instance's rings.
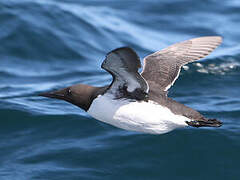
[{"label": "blackish feet and tail tip trailing behind the flying bird", "polygon": [[222,122],[217,119],[202,119],[186,122],[189,126],[193,127],[220,127]]}]

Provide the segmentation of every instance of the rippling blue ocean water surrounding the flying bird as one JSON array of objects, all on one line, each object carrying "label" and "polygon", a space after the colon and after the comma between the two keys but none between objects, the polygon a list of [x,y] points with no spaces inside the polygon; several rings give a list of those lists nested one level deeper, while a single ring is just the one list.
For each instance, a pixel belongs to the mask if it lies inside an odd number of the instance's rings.
[{"label": "rippling blue ocean water surrounding the flying bird", "polygon": [[[238,180],[239,17],[238,0],[1,0],[0,180]],[[37,96],[110,83],[100,64],[117,47],[143,58],[208,35],[223,36],[223,44],[185,66],[170,96],[221,128],[128,132]]]}]

